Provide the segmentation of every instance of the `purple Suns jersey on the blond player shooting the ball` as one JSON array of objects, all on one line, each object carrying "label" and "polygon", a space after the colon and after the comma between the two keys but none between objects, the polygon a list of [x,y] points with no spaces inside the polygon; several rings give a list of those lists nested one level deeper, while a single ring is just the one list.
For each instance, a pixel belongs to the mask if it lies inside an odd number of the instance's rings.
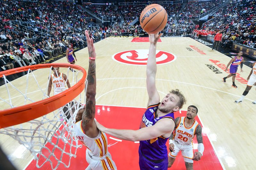
[{"label": "purple Suns jersey on the blond player shooting the ball", "polygon": [[[174,121],[174,113],[168,113],[162,117],[155,117],[156,110],[158,109],[158,105],[148,106],[146,112],[143,114],[140,129],[148,126],[153,126],[157,121],[163,118],[169,118]],[[175,121],[174,121],[175,122]],[[140,151],[149,159],[152,160],[160,160],[165,159],[167,157],[167,148],[166,141],[168,138],[164,138],[162,136],[156,137],[150,140],[140,141]]]}]

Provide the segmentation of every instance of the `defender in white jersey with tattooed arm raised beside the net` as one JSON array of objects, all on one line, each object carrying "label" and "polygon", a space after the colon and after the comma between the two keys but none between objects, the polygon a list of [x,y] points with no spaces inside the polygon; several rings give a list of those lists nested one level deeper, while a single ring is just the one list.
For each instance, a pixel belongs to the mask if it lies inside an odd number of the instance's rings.
[{"label": "defender in white jersey with tattooed arm raised beside the net", "polygon": [[93,40],[85,31],[89,52],[89,69],[87,75],[86,105],[80,109],[77,117],[82,120],[76,122],[76,137],[86,146],[86,161],[89,166],[86,170],[116,170],[116,164],[108,152],[108,141],[105,133],[101,132],[95,122],[95,95],[96,95],[96,53]]}]

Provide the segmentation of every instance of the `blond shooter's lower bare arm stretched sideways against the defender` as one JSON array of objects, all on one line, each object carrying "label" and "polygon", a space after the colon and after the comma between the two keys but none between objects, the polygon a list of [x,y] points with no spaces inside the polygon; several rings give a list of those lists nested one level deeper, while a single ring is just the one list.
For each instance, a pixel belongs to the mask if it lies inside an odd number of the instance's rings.
[{"label": "blond shooter's lower bare arm stretched sideways against the defender", "polygon": [[142,141],[154,139],[160,137],[166,133],[170,133],[170,129],[173,129],[175,123],[169,119],[161,119],[156,122],[153,126],[148,126],[141,128],[139,130],[126,130],[126,129],[109,129],[102,126],[99,122],[96,121],[97,128],[109,135],[117,137],[123,140],[129,141]]}]

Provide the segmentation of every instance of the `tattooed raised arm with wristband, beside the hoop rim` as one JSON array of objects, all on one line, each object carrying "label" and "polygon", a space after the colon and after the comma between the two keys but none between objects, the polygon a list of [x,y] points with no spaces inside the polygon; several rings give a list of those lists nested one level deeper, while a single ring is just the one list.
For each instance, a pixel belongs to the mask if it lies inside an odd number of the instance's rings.
[{"label": "tattooed raised arm with wristband, beside the hoop rim", "polygon": [[[89,68],[87,73],[87,91],[86,91],[86,107],[82,115],[82,126],[84,130],[89,128],[96,128],[94,122],[95,117],[95,95],[96,95],[96,64],[95,64],[95,48],[93,46],[93,40],[89,37],[88,31],[86,30],[87,48],[89,52]],[[93,58],[93,59],[92,59]]]}]

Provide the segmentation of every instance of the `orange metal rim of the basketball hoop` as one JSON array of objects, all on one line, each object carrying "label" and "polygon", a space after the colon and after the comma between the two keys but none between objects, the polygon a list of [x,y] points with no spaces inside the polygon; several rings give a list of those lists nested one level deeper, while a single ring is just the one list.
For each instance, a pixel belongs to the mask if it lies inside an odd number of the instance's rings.
[{"label": "orange metal rim of the basketball hoop", "polygon": [[8,76],[15,73],[28,71],[29,69],[36,70],[50,67],[70,67],[72,69],[81,70],[83,73],[83,77],[69,89],[52,97],[36,101],[24,106],[0,110],[0,129],[28,122],[48,113],[51,113],[52,111],[66,105],[68,102],[75,99],[76,96],[78,96],[85,89],[85,80],[87,74],[84,68],[78,65],[67,63],[37,64],[5,70],[0,72],[0,78],[2,78],[3,75]]}]

